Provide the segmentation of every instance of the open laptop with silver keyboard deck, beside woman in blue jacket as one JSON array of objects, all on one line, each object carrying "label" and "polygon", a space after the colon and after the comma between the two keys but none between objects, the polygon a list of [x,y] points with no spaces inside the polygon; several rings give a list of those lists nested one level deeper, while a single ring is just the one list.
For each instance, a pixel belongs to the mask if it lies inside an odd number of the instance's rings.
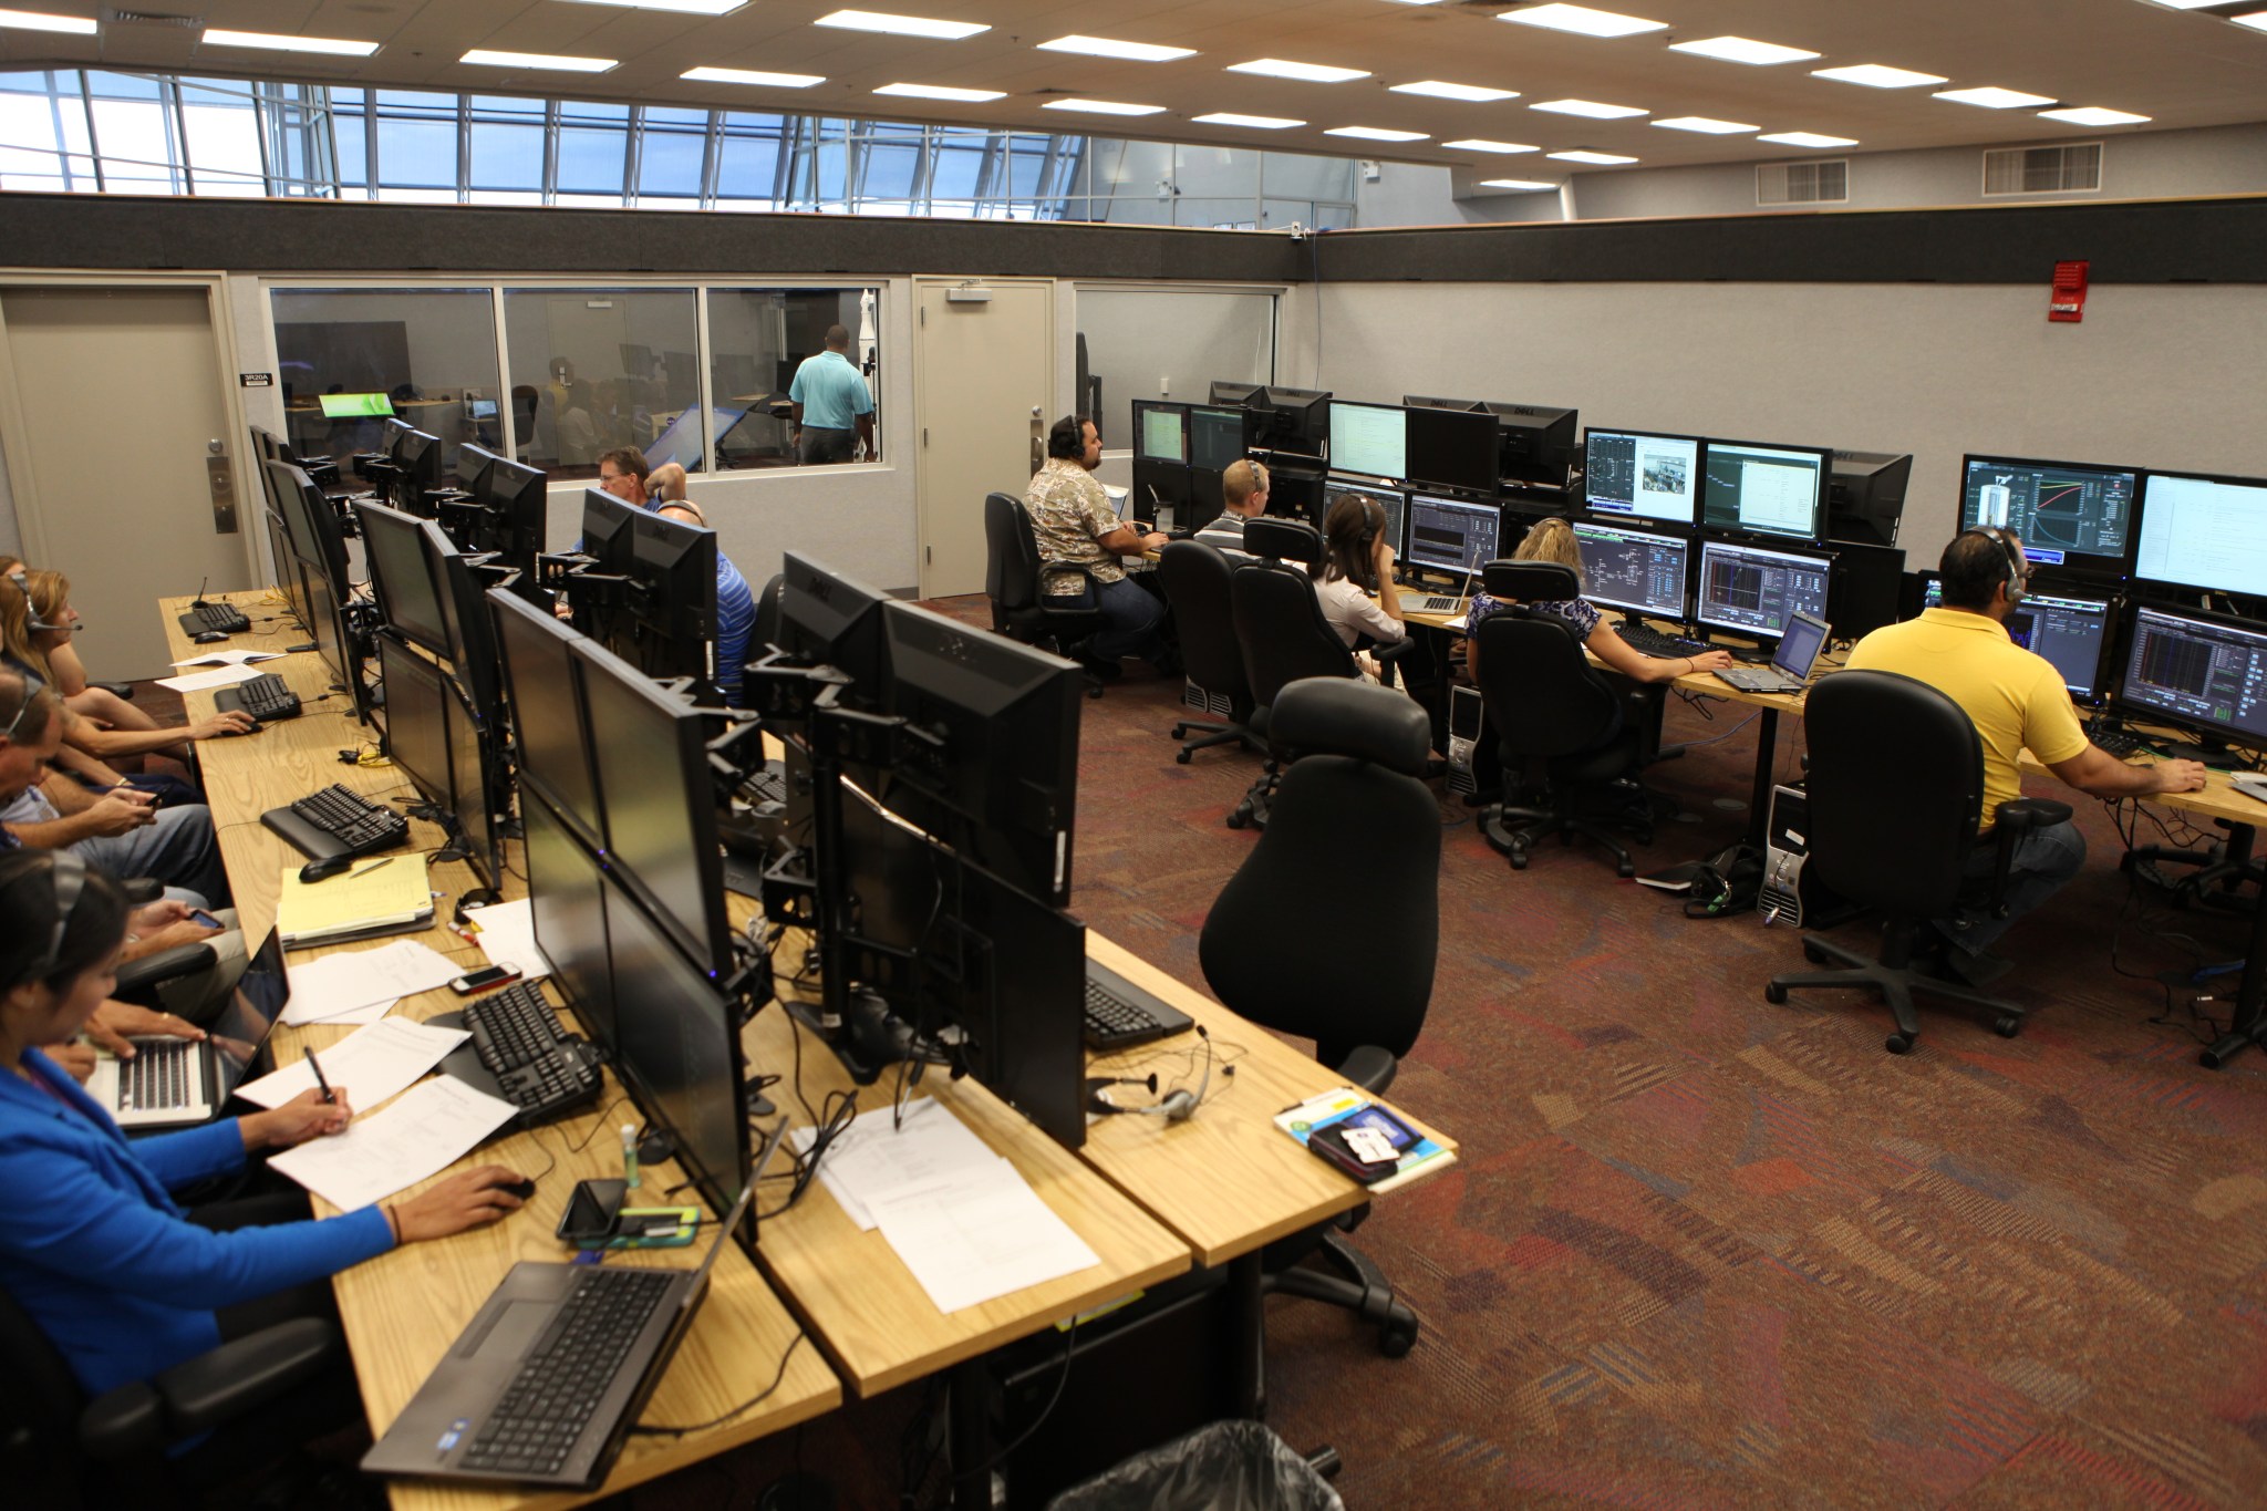
[{"label": "open laptop with silver keyboard deck, beside woman in blue jacket", "polygon": [[204,1042],[136,1038],[131,1060],[95,1060],[86,1094],[127,1133],[172,1133],[213,1121],[261,1060],[290,1001],[277,931],[270,929],[268,940],[236,963],[234,979],[224,970],[215,974],[213,988],[227,1004],[204,1024]]}]

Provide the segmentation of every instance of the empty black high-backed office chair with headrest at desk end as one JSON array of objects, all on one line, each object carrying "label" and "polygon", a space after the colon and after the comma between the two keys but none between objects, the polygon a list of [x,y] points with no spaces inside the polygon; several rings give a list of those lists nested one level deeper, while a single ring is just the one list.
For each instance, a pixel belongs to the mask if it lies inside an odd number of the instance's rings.
[{"label": "empty black high-backed office chair with headrest at desk end", "polygon": [[[1285,686],[1270,727],[1299,763],[1283,772],[1267,831],[1220,888],[1197,961],[1220,1001],[1313,1038],[1317,1060],[1383,1094],[1424,1028],[1440,954],[1440,804],[1424,784],[1433,729],[1403,693],[1347,677]],[[1344,927],[1331,929],[1333,915]],[[1317,931],[1331,942],[1317,947]],[[1342,1237],[1367,1214],[1365,1203],[1272,1244],[1265,1284],[1358,1312],[1399,1359],[1417,1341],[1417,1316]],[[1340,1273],[1306,1266],[1310,1257]]]}]

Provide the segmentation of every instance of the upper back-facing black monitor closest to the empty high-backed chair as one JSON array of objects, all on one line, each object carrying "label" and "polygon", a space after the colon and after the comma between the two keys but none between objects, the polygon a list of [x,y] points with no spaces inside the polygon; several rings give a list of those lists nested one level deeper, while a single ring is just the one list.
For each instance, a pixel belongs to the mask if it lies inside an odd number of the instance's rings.
[{"label": "upper back-facing black monitor closest to the empty high-backed chair", "polygon": [[1041,902],[1070,902],[1077,661],[909,603],[882,609],[884,711],[911,729],[882,800]]}]

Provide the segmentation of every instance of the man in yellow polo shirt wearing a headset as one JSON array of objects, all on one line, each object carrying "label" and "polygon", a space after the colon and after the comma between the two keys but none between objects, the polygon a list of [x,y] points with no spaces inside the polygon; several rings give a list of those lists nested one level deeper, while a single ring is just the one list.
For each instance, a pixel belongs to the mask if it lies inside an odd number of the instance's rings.
[{"label": "man in yellow polo shirt wearing a headset", "polygon": [[[2126,766],[2097,748],[2079,727],[2063,673],[2047,657],[2006,634],[2009,612],[2022,603],[2031,566],[2022,541],[2004,530],[1963,530],[1938,562],[1945,594],[1941,609],[1875,630],[1850,652],[1852,668],[1893,671],[1927,682],[1975,720],[1984,741],[1984,820],[2002,802],[2022,797],[2018,754],[2029,748],[2047,768],[2090,797],[2194,793],[2204,786],[2199,761]],[[2086,838],[2074,822],[2033,829],[2015,845],[2009,874],[2009,915],[1938,920],[1945,967],[1970,985],[1988,985],[2011,961],[1986,954],[2018,917],[2043,904],[2079,872]],[[1968,861],[1988,877],[1993,845],[1977,845]]]}]

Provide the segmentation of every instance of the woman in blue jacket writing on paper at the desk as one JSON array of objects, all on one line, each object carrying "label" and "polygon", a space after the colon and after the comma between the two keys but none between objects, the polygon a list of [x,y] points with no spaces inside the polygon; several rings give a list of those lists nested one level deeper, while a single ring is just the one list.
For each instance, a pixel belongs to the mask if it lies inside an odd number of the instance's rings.
[{"label": "woman in blue jacket writing on paper at the desk", "polygon": [[[320,1316],[331,1305],[326,1275],[519,1207],[501,1189],[519,1176],[485,1164],[329,1221],[234,1226],[245,1214],[186,1214],[170,1189],[240,1171],[254,1151],[340,1133],[351,1108],[347,1087],[333,1087],[336,1101],[304,1092],[268,1112],[129,1144],[45,1053],[77,1038],[102,1004],[125,924],[125,895],[102,872],[48,854],[0,856],[0,1198],[41,1214],[0,1235],[0,1284],[88,1393],[288,1316]],[[252,1203],[220,1203],[231,1205]],[[258,1205],[306,1212],[304,1198]],[[234,1230],[215,1230],[224,1226]]]}]

